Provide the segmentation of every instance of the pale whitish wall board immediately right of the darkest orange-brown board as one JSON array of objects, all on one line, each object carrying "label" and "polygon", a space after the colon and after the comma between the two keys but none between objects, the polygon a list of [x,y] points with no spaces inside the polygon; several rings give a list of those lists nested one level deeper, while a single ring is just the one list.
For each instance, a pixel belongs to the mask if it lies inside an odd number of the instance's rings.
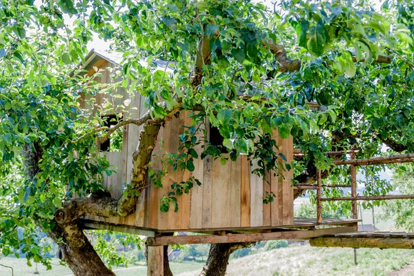
[{"label": "pale whitish wall board immediately right of the darkest orange-brown board", "polygon": [[[253,160],[251,171],[258,168],[257,160]],[[250,226],[263,225],[263,178],[250,172]]]}]

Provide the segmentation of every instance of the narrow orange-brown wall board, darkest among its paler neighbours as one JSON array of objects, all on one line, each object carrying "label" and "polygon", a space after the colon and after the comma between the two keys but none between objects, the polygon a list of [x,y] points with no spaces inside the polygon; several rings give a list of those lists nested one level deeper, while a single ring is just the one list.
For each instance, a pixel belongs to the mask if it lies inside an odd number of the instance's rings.
[{"label": "narrow orange-brown wall board, darkest among its paler neighbours", "polygon": [[241,217],[240,226],[250,226],[250,164],[247,155],[241,155]]}]

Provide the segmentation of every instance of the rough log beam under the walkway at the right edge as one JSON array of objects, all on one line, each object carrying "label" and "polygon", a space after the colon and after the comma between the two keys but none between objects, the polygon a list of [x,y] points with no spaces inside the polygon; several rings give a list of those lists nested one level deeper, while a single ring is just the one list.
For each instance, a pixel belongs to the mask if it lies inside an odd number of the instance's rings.
[{"label": "rough log beam under the walkway at the right edge", "polygon": [[309,243],[316,247],[414,249],[414,238],[401,237],[315,237]]}]

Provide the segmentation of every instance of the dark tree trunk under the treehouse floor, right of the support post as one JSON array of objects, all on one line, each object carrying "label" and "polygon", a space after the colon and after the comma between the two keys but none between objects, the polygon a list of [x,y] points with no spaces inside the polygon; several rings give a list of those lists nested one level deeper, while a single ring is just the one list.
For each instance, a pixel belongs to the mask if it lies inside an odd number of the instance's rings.
[{"label": "dark tree trunk under the treehouse floor, right of the support post", "polygon": [[208,252],[206,265],[200,276],[224,276],[226,275],[228,258],[237,249],[255,244],[254,242],[242,242],[233,244],[212,244]]}]

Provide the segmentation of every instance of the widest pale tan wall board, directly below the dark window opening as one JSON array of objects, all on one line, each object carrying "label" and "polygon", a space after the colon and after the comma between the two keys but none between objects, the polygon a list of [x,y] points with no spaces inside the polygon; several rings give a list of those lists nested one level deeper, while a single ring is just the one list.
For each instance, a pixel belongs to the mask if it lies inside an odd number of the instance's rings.
[{"label": "widest pale tan wall board, directly below the dark window opening", "polygon": [[230,227],[230,179],[231,164],[221,165],[220,159],[213,161],[213,190],[211,202],[211,226]]}]

